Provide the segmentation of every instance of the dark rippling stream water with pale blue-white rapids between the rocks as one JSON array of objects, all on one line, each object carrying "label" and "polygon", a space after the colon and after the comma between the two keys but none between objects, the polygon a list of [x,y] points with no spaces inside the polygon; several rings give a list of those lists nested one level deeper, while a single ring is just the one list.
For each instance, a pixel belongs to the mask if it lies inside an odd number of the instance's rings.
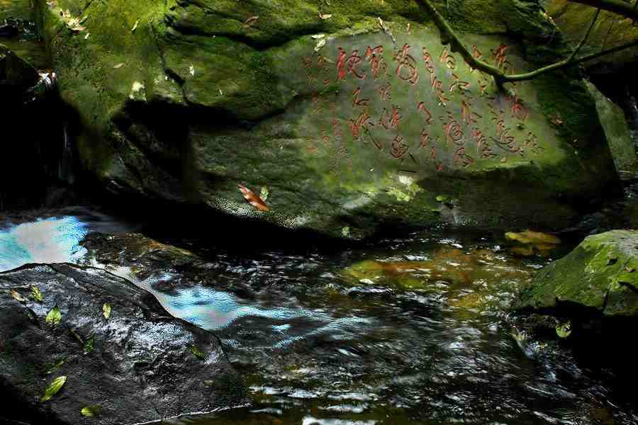
[{"label": "dark rippling stream water with pale blue-white rapids between the rocks", "polygon": [[[89,261],[87,232],[130,229],[88,210],[5,220],[0,267]],[[550,257],[443,231],[341,251],[181,244],[206,257],[200,276],[112,269],[218,334],[252,404],[166,424],[638,423],[611,370],[526,336],[509,316]]]}]

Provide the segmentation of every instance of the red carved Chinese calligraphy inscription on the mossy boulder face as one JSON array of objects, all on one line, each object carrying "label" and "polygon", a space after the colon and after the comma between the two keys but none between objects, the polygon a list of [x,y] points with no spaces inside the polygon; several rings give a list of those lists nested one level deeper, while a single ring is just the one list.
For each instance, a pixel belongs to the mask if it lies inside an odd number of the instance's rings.
[{"label": "red carved Chinese calligraphy inscription on the mossy boulder face", "polygon": [[[377,42],[335,44],[322,53],[303,58],[306,80],[340,89],[310,98],[320,135],[308,139],[307,150],[328,152],[336,174],[352,169],[353,149],[372,149],[410,174],[530,158],[546,149],[525,128],[532,113],[525,101],[496,91],[490,77],[448,47]],[[471,54],[513,72],[507,45],[474,45]]]}]

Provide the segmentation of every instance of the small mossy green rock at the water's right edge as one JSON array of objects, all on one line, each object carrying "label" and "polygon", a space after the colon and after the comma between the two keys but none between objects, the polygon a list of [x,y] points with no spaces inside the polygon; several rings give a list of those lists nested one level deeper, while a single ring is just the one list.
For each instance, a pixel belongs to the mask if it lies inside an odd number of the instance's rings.
[{"label": "small mossy green rock at the water's right edge", "polygon": [[580,307],[605,317],[638,317],[638,232],[587,237],[535,275],[519,307],[552,312]]}]

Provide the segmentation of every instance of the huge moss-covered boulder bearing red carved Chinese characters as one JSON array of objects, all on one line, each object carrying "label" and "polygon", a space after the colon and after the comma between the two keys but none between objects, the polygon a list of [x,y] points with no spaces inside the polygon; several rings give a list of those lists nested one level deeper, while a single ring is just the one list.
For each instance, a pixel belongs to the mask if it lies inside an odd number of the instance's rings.
[{"label": "huge moss-covered boulder bearing red carved Chinese characters", "polygon": [[[358,239],[555,229],[617,177],[575,73],[498,91],[418,1],[35,4],[82,163],[117,193]],[[565,51],[533,1],[435,4],[505,72]]]}]

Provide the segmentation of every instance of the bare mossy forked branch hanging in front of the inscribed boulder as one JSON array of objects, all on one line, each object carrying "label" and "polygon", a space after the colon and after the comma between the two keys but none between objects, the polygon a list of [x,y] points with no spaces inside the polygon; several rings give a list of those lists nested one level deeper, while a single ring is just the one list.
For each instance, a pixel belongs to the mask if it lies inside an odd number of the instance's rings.
[{"label": "bare mossy forked branch hanging in front of the inscribed boulder", "polygon": [[[491,64],[488,64],[486,62],[476,59],[476,57],[474,57],[474,55],[472,55],[472,53],[466,49],[463,42],[457,35],[457,33],[455,33],[452,27],[449,26],[449,23],[447,23],[445,18],[437,11],[437,9],[434,6],[432,6],[432,3],[430,2],[430,0],[418,0],[418,1],[420,1],[420,4],[425,6],[427,11],[430,12],[430,15],[432,16],[432,20],[435,22],[435,25],[439,28],[441,32],[442,44],[444,45],[449,44],[450,50],[452,50],[452,52],[458,52],[463,57],[465,62],[469,64],[469,66],[472,67],[473,69],[478,69],[479,71],[494,77],[494,80],[496,81],[496,85],[500,89],[503,89],[503,84],[505,83],[512,83],[515,81],[525,81],[525,80],[534,79],[535,77],[538,77],[540,74],[544,74],[546,72],[555,71],[556,69],[561,69],[566,67],[572,67],[573,65],[580,64],[583,62],[588,62],[590,60],[597,59],[598,57],[601,57],[604,55],[610,55],[615,52],[620,52],[620,50],[625,50],[625,49],[628,49],[629,47],[634,47],[638,45],[638,39],[636,39],[617,47],[601,50],[600,52],[593,53],[592,55],[576,57],[576,54],[578,53],[579,50],[581,50],[581,48],[585,44],[587,38],[589,37],[591,33],[591,30],[593,29],[595,25],[595,22],[598,19],[598,14],[600,13],[600,9],[598,9],[583,39],[581,40],[581,42],[578,43],[578,45],[573,50],[573,52],[571,52],[569,57],[567,57],[564,60],[561,60],[560,62],[547,65],[547,67],[536,69],[535,71],[532,71],[532,72],[527,72],[525,74],[508,75],[503,73],[497,67],[494,67]],[[597,0],[595,1],[595,3],[610,2],[610,1],[615,1],[615,0]],[[592,0],[592,2],[594,1]],[[601,6],[600,8],[603,8],[603,7]]]}]

